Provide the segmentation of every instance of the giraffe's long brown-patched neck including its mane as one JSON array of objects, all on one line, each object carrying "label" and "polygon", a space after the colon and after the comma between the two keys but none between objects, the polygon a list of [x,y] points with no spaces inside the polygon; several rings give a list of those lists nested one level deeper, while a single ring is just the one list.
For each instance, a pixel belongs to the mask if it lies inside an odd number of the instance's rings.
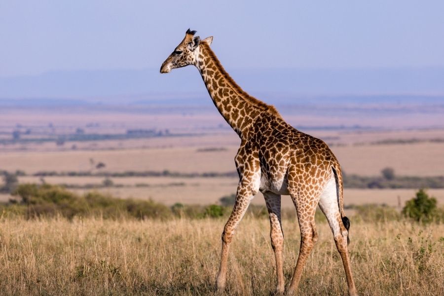
[{"label": "giraffe's long brown-patched neck including its mane", "polygon": [[253,98],[236,84],[209,45],[201,42],[198,48],[195,66],[202,75],[214,105],[239,137],[242,138],[264,112],[279,116],[273,106]]}]

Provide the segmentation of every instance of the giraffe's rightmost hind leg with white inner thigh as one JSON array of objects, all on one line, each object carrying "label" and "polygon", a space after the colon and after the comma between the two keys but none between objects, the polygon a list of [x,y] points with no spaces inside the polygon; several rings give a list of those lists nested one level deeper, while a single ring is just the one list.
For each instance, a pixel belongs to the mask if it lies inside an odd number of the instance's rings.
[{"label": "giraffe's rightmost hind leg with white inner thigh", "polygon": [[351,271],[350,257],[348,254],[348,229],[350,221],[347,217],[341,217],[336,196],[336,183],[334,178],[330,179],[324,188],[319,200],[319,207],[327,218],[333,232],[337,251],[341,256],[347,278],[348,294],[357,295],[353,275]]}]

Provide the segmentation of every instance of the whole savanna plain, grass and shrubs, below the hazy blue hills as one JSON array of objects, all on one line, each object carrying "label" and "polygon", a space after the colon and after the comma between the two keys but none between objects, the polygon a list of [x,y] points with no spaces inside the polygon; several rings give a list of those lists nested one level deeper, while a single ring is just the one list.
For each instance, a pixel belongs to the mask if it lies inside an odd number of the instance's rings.
[{"label": "whole savanna plain, grass and shrubs, below the hazy blue hills", "polygon": [[[397,106],[281,109],[345,171],[359,294],[444,295],[443,219],[402,214],[420,188],[442,213],[444,107]],[[213,108],[165,110],[2,109],[0,294],[216,295],[239,139]],[[288,284],[300,235],[288,196],[282,206]],[[298,295],[346,295],[322,213],[316,223]],[[258,194],[231,244],[226,295],[273,295],[269,227]]]}]

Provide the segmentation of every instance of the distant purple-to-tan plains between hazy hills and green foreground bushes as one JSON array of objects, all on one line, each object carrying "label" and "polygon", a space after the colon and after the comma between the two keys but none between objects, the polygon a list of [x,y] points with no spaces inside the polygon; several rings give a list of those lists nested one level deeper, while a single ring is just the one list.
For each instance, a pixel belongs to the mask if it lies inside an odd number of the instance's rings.
[{"label": "distant purple-to-tan plains between hazy hills and green foreground bushes", "polygon": [[[301,101],[298,101],[301,102]],[[6,107],[0,116],[0,138],[11,139],[14,131],[26,137],[57,137],[121,134],[130,129],[170,131],[170,136],[143,139],[11,142],[0,145],[0,170],[37,172],[122,173],[155,171],[189,173],[235,173],[234,155],[239,138],[209,104],[172,105],[79,105]],[[347,174],[378,176],[392,167],[400,176],[444,175],[444,120],[441,105],[399,105],[398,103],[347,103],[323,106],[281,106],[283,116],[300,130],[330,144]],[[299,104],[299,103],[298,103]],[[375,120],[377,118],[377,120]],[[26,132],[29,130],[29,135]],[[404,144],[402,144],[404,143]],[[105,166],[97,169],[96,165]],[[176,202],[209,204],[236,190],[235,178],[111,178],[114,185],[100,188],[122,198],[152,198],[165,204]],[[37,182],[38,177],[20,177],[19,181]],[[101,185],[104,178],[45,177],[51,184],[77,187]],[[141,186],[142,185],[142,186]],[[82,188],[73,190],[82,191]],[[346,204],[385,203],[397,206],[413,195],[413,190],[347,189]],[[431,190],[440,203],[443,190]],[[259,194],[260,195],[260,194]],[[9,198],[1,194],[0,199]],[[261,196],[254,200],[263,203]],[[293,206],[285,199],[284,206]]]}]

